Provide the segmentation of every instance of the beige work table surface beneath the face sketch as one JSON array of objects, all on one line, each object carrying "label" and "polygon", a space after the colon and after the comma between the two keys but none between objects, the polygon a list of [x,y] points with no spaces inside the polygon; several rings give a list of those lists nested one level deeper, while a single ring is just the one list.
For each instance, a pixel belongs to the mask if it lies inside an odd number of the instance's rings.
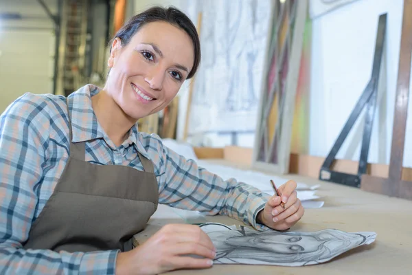
[{"label": "beige work table surface beneath the face sketch", "polygon": [[[306,210],[301,221],[290,230],[336,228],[346,232],[374,231],[378,234],[376,241],[341,254],[327,263],[306,267],[214,265],[207,270],[179,270],[168,274],[412,274],[412,201],[297,175],[282,177],[310,185],[321,184],[317,195],[325,201],[322,208]],[[135,243],[143,243],[168,223],[205,221],[243,224],[229,217],[203,217],[196,212],[159,205],[147,228],[135,235]]]}]

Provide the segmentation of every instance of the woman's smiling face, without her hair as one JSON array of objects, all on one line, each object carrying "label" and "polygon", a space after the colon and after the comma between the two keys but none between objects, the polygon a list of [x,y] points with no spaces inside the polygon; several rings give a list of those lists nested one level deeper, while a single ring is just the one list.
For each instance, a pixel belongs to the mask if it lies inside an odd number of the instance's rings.
[{"label": "woman's smiling face, without her hair", "polygon": [[163,21],[148,23],[127,45],[113,41],[104,89],[128,117],[138,120],[173,100],[193,63],[194,47],[185,31]]}]

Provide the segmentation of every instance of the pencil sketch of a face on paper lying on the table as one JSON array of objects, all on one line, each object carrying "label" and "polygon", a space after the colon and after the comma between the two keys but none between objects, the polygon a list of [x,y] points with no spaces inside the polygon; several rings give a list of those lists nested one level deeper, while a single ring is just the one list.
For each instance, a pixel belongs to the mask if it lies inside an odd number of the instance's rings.
[{"label": "pencil sketch of a face on paper lying on the table", "polygon": [[256,231],[244,226],[203,223],[216,248],[214,263],[249,265],[316,265],[361,245],[373,243],[376,232]]}]

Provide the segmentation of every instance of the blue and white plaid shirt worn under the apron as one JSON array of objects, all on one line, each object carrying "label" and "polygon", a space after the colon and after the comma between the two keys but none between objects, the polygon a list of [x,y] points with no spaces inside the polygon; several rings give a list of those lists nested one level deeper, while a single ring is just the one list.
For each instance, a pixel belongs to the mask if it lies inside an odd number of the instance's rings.
[{"label": "blue and white plaid shirt worn under the apron", "polygon": [[[143,170],[137,151],[155,165],[159,203],[206,214],[226,214],[258,230],[257,213],[268,195],[235,179],[223,180],[191,159],[162,145],[157,135],[137,126],[119,147],[108,138],[91,107],[100,91],[86,85],[69,96],[73,142],[87,141],[85,160],[97,165],[127,165]],[[66,98],[24,94],[0,116],[0,274],[114,274],[117,250],[53,252],[24,250],[32,222],[69,157]]]}]

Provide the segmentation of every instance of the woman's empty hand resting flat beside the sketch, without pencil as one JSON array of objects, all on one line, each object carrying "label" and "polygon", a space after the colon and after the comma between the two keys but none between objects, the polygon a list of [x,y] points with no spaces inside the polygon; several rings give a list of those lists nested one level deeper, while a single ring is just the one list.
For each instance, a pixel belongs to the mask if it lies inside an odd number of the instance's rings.
[{"label": "woman's empty hand resting flat beside the sketch, without pencil", "polygon": [[211,239],[197,225],[168,224],[137,248],[119,253],[116,274],[160,274],[184,268],[207,268],[213,265],[215,256]]}]

